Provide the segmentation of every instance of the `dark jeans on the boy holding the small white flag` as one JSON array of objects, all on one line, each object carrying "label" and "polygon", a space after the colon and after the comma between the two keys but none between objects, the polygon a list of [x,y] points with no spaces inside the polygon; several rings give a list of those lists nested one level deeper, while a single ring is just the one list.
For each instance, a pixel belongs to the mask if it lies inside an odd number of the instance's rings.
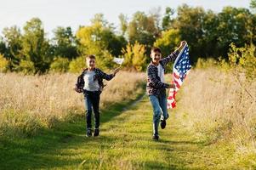
[{"label": "dark jeans on the boy holding the small white flag", "polygon": [[87,129],[92,128],[92,112],[94,110],[95,128],[100,127],[100,93],[98,91],[90,92],[85,91],[84,93],[84,104],[86,111],[86,127]]}]

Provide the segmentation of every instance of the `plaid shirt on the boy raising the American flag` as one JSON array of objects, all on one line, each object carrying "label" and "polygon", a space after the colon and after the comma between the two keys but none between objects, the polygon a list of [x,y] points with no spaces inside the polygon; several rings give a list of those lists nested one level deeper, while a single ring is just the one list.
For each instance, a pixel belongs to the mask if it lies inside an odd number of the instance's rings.
[{"label": "plaid shirt on the boy raising the American flag", "polygon": [[[165,66],[168,62],[173,61],[178,56],[179,51],[174,51],[174,53],[169,54],[168,57],[160,59],[159,64],[165,70]],[[158,96],[159,94],[166,93],[165,89],[169,88],[168,83],[161,82],[160,77],[158,77],[157,66],[152,62],[147,67],[147,83],[146,83],[146,93],[148,95],[154,94]]]}]

